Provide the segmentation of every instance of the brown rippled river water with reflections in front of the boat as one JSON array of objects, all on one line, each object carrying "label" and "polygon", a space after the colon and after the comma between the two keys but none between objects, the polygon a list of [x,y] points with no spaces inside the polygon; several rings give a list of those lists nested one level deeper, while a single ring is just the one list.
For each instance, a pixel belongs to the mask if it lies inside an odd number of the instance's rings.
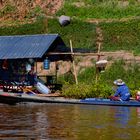
[{"label": "brown rippled river water with reflections in front of the boat", "polygon": [[140,140],[140,108],[0,104],[0,140]]}]

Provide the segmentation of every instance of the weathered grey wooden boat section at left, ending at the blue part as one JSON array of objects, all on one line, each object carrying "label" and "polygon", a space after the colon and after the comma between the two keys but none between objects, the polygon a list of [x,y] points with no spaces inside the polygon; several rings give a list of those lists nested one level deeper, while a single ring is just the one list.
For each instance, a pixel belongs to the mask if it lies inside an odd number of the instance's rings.
[{"label": "weathered grey wooden boat section at left, ending at the blue part", "polygon": [[16,93],[0,93],[0,103],[14,105],[17,103],[73,103],[78,104],[78,99],[67,99],[59,96],[40,96],[40,95],[28,95],[28,94],[16,94]]}]

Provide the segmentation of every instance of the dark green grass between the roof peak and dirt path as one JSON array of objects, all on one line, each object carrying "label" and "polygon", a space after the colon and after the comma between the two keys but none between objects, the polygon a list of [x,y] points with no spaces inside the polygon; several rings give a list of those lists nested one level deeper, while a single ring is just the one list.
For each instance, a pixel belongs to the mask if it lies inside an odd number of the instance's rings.
[{"label": "dark green grass between the roof peak and dirt path", "polygon": [[95,25],[79,20],[73,20],[71,24],[61,27],[54,19],[48,21],[48,32],[61,35],[67,45],[72,40],[74,48],[95,49]]}]

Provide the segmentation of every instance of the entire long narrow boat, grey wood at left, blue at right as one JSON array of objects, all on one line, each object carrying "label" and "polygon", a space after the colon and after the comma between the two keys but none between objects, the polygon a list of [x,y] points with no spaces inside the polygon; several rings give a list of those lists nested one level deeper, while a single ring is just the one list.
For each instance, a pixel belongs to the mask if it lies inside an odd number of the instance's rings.
[{"label": "entire long narrow boat, grey wood at left, blue at right", "polygon": [[111,101],[110,99],[100,99],[100,98],[69,99],[64,97],[53,97],[53,96],[42,97],[28,94],[0,93],[0,103],[14,105],[17,103],[30,103],[30,102],[140,107],[140,102],[136,100]]}]

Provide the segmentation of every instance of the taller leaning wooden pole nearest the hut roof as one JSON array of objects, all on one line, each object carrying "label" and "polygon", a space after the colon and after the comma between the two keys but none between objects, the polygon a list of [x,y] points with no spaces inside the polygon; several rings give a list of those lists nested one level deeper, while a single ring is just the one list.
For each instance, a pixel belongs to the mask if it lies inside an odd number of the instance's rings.
[{"label": "taller leaning wooden pole nearest the hut roof", "polygon": [[72,55],[72,65],[73,65],[73,71],[74,71],[74,78],[75,78],[76,84],[78,84],[76,66],[75,66],[74,55],[73,55],[73,47],[72,47],[72,41],[71,40],[70,40],[70,48],[71,48],[71,55]]}]

